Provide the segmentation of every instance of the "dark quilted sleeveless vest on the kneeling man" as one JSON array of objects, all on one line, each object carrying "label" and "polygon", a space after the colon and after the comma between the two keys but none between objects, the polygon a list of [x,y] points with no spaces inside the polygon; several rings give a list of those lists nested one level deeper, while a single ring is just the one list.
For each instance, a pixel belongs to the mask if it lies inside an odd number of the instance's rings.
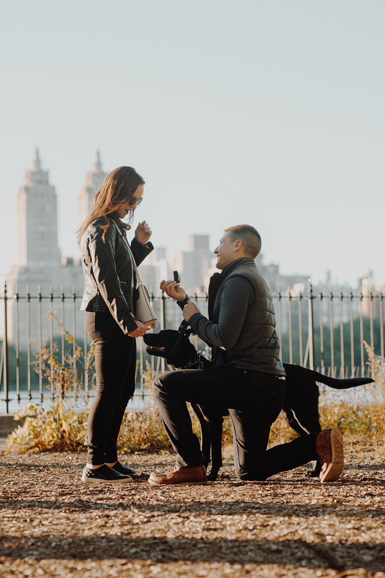
[{"label": "dark quilted sleeveless vest on the kneeling man", "polygon": [[235,345],[227,350],[213,347],[214,364],[216,367],[236,366],[241,369],[285,376],[279,359],[279,339],[275,329],[272,296],[268,284],[254,261],[250,259],[240,261],[220,285],[214,298],[210,321],[219,323],[223,287],[228,279],[239,275],[246,277],[253,284],[256,297],[249,304],[245,322]]}]

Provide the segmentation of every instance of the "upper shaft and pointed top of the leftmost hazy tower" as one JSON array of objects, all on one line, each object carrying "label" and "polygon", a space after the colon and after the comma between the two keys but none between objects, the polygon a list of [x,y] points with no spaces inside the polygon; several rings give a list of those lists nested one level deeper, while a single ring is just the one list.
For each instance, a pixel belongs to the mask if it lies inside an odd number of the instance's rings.
[{"label": "upper shaft and pointed top of the leftmost hazy tower", "polygon": [[17,196],[19,266],[54,269],[60,266],[57,236],[57,197],[43,171],[39,151],[25,171],[25,185]]}]

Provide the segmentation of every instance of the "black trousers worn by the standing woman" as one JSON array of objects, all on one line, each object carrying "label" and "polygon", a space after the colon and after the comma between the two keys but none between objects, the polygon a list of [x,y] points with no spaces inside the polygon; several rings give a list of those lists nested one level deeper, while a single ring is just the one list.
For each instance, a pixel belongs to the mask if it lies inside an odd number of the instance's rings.
[{"label": "black trousers worn by the standing woman", "polygon": [[96,395],[88,414],[88,464],[117,460],[116,440],[135,391],[136,342],[124,335],[110,313],[86,312],[95,343]]}]

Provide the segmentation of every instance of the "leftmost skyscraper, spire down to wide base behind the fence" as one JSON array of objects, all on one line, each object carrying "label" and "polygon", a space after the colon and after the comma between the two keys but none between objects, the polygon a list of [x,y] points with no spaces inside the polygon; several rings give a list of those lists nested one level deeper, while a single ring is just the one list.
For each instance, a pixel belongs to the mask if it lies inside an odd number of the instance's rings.
[{"label": "leftmost skyscraper, spire down to wide base behind the fence", "polygon": [[[67,321],[73,321],[73,303],[71,299],[66,300],[65,304],[61,301],[61,288],[69,297],[75,287],[75,294],[80,297],[84,287],[80,260],[61,257],[58,246],[57,196],[55,188],[49,183],[48,171],[42,169],[38,150],[32,168],[25,171],[25,184],[20,187],[17,195],[17,223],[18,263],[12,267],[6,280],[8,296],[12,297],[17,287],[19,297],[17,301],[9,303],[9,336],[12,341],[15,335],[15,307],[18,307],[18,339],[20,349],[23,350],[27,348],[30,339],[38,338],[39,327],[43,339],[49,335],[46,313],[51,307],[57,310],[61,318],[63,303],[64,317]],[[49,299],[50,287],[54,295],[52,303]],[[76,327],[82,328],[84,315],[79,312],[78,303],[75,309]]]}]

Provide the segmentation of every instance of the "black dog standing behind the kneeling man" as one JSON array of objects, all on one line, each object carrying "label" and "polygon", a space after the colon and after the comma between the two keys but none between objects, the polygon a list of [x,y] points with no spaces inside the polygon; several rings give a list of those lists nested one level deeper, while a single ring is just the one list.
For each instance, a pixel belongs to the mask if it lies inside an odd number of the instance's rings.
[{"label": "black dog standing behind the kneeling man", "polygon": [[[176,369],[206,369],[212,367],[211,361],[200,355],[188,340],[192,330],[187,329],[186,321],[182,322],[178,331],[165,329],[157,334],[146,334],[143,337],[147,353],[164,357],[169,365]],[[336,390],[362,386],[371,383],[373,379],[357,377],[354,379],[333,379],[303,368],[301,365],[283,364],[286,372],[286,395],[282,404],[284,416],[288,425],[299,435],[321,431],[319,414],[319,388],[316,381],[324,383]],[[201,425],[201,449],[205,468],[210,462],[211,470],[208,480],[217,479],[222,466],[222,424],[223,417],[228,416],[226,408],[199,406],[191,403]],[[211,450],[211,451],[210,451]],[[321,466],[314,462],[310,476],[318,476]]]}]

